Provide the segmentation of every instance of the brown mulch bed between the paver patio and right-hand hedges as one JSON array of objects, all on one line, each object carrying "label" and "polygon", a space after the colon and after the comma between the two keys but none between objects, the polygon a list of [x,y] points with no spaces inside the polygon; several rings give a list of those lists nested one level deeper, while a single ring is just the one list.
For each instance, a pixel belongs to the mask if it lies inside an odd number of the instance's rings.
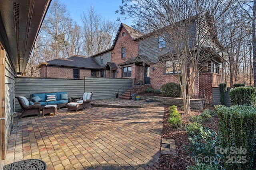
[{"label": "brown mulch bed between the paver patio and right-hand hedges", "polygon": [[[142,95],[142,94],[140,94]],[[150,96],[150,94],[146,93],[143,95]],[[153,95],[153,94],[151,94]],[[156,96],[156,95],[155,95]],[[206,106],[204,109],[209,108],[214,110],[213,106]],[[188,135],[186,135],[186,131],[184,131],[185,125],[192,123],[189,118],[192,115],[200,115],[203,110],[195,110],[191,109],[190,114],[184,114],[181,108],[178,108],[178,112],[180,113],[182,119],[182,127],[179,129],[174,129],[170,127],[168,123],[169,118],[169,106],[165,106],[165,112],[163,117],[163,128],[162,128],[162,138],[174,139],[176,144],[176,152],[177,156],[173,155],[160,155],[159,163],[151,167],[152,170],[186,170],[186,167],[189,165],[193,165],[194,162],[186,161],[186,157],[190,156],[190,154],[185,150],[184,145],[189,145]],[[213,129],[214,131],[218,131],[218,115],[212,117],[212,121],[202,123],[203,127],[208,127]]]}]

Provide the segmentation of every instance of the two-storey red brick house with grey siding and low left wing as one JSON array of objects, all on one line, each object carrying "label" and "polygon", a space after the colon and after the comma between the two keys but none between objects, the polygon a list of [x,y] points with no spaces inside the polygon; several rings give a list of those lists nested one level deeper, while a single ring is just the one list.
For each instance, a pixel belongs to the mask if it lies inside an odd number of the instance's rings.
[{"label": "two-storey red brick house with grey siding and low left wing", "polygon": [[[207,14],[205,14],[207,15]],[[206,19],[207,21],[207,19]],[[207,29],[208,30],[208,29]],[[214,41],[209,44],[214,43]],[[132,78],[134,83],[142,79],[145,86],[160,89],[167,82],[176,82],[178,76],[175,70],[166,71],[166,67],[159,62],[170,51],[164,48],[166,42],[160,37],[146,37],[139,31],[121,23],[111,49],[91,57],[73,56],[68,59],[54,59],[41,63],[41,77],[84,78],[84,76],[98,76],[109,78]],[[163,49],[165,49],[163,51]],[[78,60],[78,61],[77,61]],[[222,83],[221,55],[213,56],[205,65],[194,82],[194,95],[211,102],[212,87]],[[164,62],[162,62],[164,63]],[[190,72],[190,70],[188,70]],[[79,74],[75,76],[75,74]]]}]

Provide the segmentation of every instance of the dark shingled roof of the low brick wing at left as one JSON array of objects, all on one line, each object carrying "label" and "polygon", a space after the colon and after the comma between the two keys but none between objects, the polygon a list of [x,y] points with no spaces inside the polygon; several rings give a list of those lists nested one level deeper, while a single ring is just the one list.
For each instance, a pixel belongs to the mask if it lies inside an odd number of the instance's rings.
[{"label": "dark shingled roof of the low brick wing at left", "polygon": [[54,65],[54,66],[68,66],[76,68],[89,68],[89,69],[100,69],[104,68],[97,63],[97,61],[92,57],[84,57],[74,55],[68,59],[54,59],[39,64],[38,68],[42,68],[44,65]]}]

